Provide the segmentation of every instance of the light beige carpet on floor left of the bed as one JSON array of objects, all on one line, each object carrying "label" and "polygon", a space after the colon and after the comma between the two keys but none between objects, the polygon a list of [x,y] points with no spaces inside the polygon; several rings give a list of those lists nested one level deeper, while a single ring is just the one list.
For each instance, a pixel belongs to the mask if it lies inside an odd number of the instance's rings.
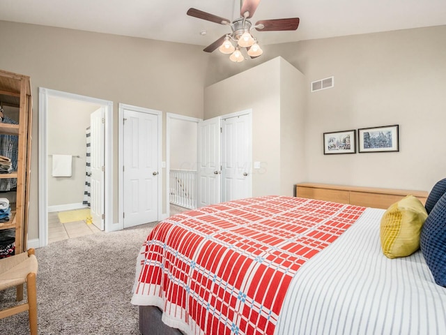
[{"label": "light beige carpet on floor left of the bed", "polygon": [[[132,285],[137,254],[155,225],[36,249],[39,334],[139,334],[138,307],[130,304]],[[15,288],[0,292],[0,308],[14,300]],[[27,312],[0,320],[0,329],[1,334],[29,334]]]}]

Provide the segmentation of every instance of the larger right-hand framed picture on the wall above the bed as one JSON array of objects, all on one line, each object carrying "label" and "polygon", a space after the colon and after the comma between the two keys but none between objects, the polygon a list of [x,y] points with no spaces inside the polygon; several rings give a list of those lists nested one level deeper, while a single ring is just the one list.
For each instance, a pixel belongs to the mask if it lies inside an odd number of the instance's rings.
[{"label": "larger right-hand framed picture on the wall above the bed", "polygon": [[398,125],[357,130],[358,152],[399,151]]}]

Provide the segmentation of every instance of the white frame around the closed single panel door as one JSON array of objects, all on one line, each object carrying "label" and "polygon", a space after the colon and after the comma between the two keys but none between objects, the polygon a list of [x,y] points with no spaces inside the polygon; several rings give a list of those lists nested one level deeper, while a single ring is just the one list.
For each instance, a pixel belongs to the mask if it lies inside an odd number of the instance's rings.
[{"label": "white frame around the closed single panel door", "polygon": [[157,115],[158,119],[158,221],[162,219],[162,112],[159,110],[151,110],[149,108],[137,107],[120,103],[118,105],[118,223],[119,228],[124,229],[124,110],[133,110],[135,112],[148,113]]}]

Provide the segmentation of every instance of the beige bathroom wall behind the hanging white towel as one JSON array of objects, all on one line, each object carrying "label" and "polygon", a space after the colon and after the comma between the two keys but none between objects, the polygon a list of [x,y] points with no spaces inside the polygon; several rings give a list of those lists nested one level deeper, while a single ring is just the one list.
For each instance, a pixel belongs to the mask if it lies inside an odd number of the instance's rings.
[{"label": "beige bathroom wall behind the hanging white towel", "polygon": [[[86,172],[86,128],[90,115],[100,106],[70,101],[64,98],[48,99],[48,207],[64,204],[82,204]],[[79,156],[72,158],[71,177],[52,177],[52,155]]]}]

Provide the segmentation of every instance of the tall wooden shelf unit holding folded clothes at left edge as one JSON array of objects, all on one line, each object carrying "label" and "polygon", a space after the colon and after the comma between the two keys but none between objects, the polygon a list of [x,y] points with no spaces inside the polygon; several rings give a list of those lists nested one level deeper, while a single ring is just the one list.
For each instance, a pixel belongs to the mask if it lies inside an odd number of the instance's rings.
[{"label": "tall wooden shelf unit holding folded clothes at left edge", "polygon": [[[16,200],[15,203],[10,204],[10,220],[0,223],[0,230],[15,229],[15,253],[18,254],[26,251],[28,237],[31,121],[33,110],[30,77],[0,70],[0,103],[3,107],[18,108],[19,124],[3,124],[0,122],[0,135],[18,136],[17,171],[0,174],[0,179],[17,178]],[[0,198],[8,197],[0,193]]]}]

